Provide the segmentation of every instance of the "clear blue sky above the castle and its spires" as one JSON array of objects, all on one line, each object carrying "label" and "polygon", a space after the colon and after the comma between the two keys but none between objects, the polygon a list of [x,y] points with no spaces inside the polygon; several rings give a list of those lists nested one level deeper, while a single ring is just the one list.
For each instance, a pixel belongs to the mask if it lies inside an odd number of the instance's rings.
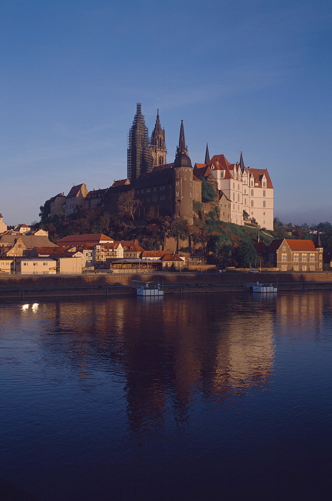
[{"label": "clear blue sky above the castle and its spires", "polygon": [[73,184],[126,177],[126,137],[159,108],[167,161],[180,120],[192,163],[267,167],[274,215],[331,217],[327,1],[2,0],[0,212],[39,219]]}]

